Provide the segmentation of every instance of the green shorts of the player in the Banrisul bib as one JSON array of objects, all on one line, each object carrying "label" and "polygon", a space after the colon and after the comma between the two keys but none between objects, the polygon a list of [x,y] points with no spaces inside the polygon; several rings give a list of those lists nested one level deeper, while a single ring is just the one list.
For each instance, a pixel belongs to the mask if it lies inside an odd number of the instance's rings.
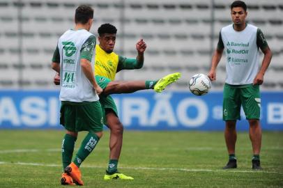
[{"label": "green shorts of the player in the Banrisul bib", "polygon": [[240,120],[241,106],[243,106],[247,119],[260,118],[261,98],[259,85],[224,85],[223,120]]}]

